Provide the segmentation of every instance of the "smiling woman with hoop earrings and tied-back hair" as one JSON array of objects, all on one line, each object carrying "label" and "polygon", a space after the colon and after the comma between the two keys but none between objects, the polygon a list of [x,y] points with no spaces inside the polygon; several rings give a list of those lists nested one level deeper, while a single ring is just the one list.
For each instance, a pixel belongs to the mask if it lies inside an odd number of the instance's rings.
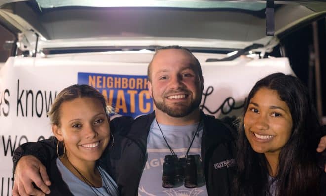
[{"label": "smiling woman with hoop earrings and tied-back hair", "polygon": [[47,166],[50,196],[118,196],[111,176],[97,161],[114,139],[111,108],[96,89],[72,85],[62,90],[48,113],[58,158]]}]

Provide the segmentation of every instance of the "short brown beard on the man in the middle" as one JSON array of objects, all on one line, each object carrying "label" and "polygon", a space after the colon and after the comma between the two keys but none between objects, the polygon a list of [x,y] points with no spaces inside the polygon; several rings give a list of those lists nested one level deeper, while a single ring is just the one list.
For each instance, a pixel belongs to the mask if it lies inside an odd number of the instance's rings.
[{"label": "short brown beard on the man in the middle", "polygon": [[191,100],[190,104],[186,103],[173,103],[172,106],[169,106],[164,103],[164,101],[158,102],[155,100],[152,92],[152,98],[154,101],[154,105],[157,109],[163,111],[164,113],[168,114],[169,116],[175,117],[175,118],[181,118],[185,117],[191,112],[193,112],[195,109],[198,109],[200,103],[201,103],[201,97]]}]

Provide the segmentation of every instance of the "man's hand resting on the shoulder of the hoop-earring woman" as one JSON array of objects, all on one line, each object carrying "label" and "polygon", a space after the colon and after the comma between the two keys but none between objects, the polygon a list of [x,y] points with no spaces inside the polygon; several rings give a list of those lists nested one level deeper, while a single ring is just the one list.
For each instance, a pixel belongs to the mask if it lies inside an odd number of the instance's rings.
[{"label": "man's hand resting on the shoulder of the hoop-earring woman", "polygon": [[[34,188],[32,182],[41,189]],[[44,165],[34,156],[23,156],[17,163],[13,196],[45,196],[50,193],[51,185]]]}]

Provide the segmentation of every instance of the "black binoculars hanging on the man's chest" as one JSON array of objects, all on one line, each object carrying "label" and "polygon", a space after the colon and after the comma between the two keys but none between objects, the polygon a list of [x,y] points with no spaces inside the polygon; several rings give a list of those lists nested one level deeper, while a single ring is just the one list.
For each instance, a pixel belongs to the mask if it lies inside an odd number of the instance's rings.
[{"label": "black binoculars hanging on the man's chest", "polygon": [[194,155],[178,158],[177,155],[166,155],[163,164],[162,186],[173,188],[182,185],[197,187],[197,166]]}]

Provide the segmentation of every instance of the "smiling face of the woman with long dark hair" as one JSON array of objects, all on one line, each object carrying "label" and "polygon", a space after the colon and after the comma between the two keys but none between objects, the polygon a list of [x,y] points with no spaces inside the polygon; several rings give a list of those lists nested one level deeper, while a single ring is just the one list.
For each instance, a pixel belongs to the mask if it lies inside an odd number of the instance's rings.
[{"label": "smiling face of the woman with long dark hair", "polygon": [[276,90],[259,89],[244,116],[245,135],[258,153],[279,154],[291,136],[292,116]]}]

